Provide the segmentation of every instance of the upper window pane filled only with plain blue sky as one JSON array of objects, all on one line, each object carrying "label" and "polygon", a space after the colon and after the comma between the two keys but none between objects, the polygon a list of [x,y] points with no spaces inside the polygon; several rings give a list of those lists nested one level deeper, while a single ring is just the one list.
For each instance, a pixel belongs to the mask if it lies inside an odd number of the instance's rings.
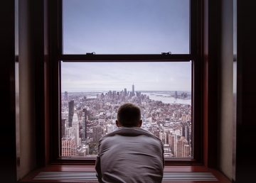
[{"label": "upper window pane filled only with plain blue sky", "polygon": [[63,53],[188,54],[189,0],[63,0]]}]

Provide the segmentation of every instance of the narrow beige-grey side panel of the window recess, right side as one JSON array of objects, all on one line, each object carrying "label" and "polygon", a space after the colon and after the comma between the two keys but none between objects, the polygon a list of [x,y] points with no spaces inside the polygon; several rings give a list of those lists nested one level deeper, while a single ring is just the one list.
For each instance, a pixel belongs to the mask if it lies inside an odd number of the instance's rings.
[{"label": "narrow beige-grey side panel of the window recess, right side", "polygon": [[233,157],[233,0],[221,1],[218,169],[232,179]]}]

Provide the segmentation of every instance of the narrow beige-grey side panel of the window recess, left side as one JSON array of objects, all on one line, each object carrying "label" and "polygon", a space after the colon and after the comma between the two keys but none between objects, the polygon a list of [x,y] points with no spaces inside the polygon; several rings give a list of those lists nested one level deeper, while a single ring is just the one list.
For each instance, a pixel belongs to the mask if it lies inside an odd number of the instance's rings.
[{"label": "narrow beige-grey side panel of the window recess, left side", "polygon": [[19,153],[18,179],[36,167],[35,57],[31,1],[18,4]]}]

